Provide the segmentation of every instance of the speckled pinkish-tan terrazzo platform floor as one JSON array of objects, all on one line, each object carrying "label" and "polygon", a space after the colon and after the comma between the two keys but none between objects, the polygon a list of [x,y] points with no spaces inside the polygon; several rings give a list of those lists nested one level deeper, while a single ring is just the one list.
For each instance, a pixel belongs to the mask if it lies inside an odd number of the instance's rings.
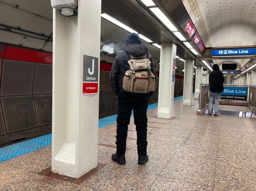
[{"label": "speckled pinkish-tan terrazzo platform floor", "polygon": [[[111,160],[115,123],[99,128],[97,173],[68,182],[39,172],[51,165],[51,146],[0,163],[0,190],[256,190],[256,118],[198,116],[192,106],[174,102],[174,118],[149,110],[149,161],[137,164],[131,118],[126,164]],[[79,183],[78,183],[79,182]]]}]

